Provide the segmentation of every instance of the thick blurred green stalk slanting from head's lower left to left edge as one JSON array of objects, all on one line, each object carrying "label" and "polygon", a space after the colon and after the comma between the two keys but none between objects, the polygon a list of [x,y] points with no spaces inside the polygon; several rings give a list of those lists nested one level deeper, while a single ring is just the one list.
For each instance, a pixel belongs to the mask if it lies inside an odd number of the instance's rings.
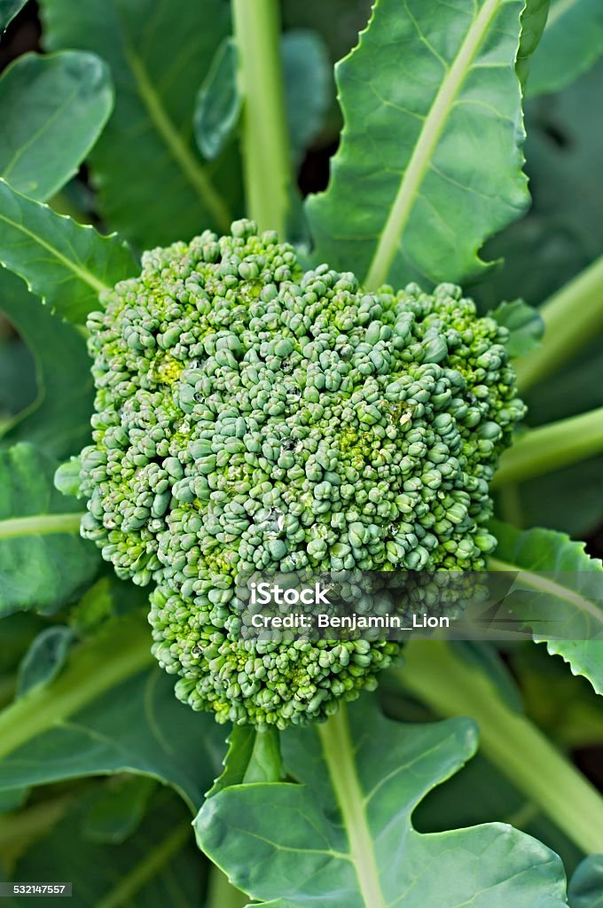
[{"label": "thick blurred green stalk slanting from head's lower left to left edge", "polygon": [[153,661],[142,617],[106,625],[98,637],[74,650],[52,684],[33,688],[0,713],[0,757],[60,725]]}]

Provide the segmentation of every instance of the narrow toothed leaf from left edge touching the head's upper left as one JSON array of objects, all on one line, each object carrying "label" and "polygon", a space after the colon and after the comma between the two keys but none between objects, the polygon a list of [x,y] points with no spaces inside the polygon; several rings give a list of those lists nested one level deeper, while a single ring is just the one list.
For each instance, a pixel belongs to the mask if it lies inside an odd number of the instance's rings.
[{"label": "narrow toothed leaf from left edge touching the head's upper left", "polygon": [[22,277],[53,311],[85,321],[98,296],[136,271],[117,236],[101,236],[0,180],[0,262]]}]

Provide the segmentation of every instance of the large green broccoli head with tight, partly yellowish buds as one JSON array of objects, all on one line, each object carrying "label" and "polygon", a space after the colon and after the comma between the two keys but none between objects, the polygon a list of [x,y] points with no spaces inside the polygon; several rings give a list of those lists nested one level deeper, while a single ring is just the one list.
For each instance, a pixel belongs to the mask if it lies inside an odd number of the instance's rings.
[{"label": "large green broccoli head with tight, partly yellowish buds", "polygon": [[483,568],[524,411],[506,330],[450,284],[304,273],[249,221],[145,253],[104,302],[84,536],[153,581],[153,651],[184,702],[259,727],[330,715],[400,645],[243,640],[235,577]]}]

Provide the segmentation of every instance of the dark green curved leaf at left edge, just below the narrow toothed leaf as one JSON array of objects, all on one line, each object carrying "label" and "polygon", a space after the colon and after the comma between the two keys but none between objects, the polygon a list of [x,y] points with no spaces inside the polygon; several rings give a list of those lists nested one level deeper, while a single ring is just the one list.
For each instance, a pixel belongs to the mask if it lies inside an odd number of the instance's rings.
[{"label": "dark green curved leaf at left edge, just below the narrow toothed leaf", "polygon": [[[0,439],[32,441],[58,459],[81,449],[90,435],[94,383],[81,331],[61,321],[29,293],[23,281],[0,273],[0,311],[35,359],[37,396],[0,429]],[[57,368],[57,355],[61,368]],[[15,381],[15,377],[13,378]]]}]

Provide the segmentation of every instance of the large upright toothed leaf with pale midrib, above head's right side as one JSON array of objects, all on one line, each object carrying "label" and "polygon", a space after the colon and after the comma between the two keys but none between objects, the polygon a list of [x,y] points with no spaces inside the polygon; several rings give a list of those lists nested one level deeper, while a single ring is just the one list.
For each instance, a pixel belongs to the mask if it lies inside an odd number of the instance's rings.
[{"label": "large upright toothed leaf with pale midrib, above head's right side", "polygon": [[[521,172],[522,0],[378,0],[338,64],[345,127],[308,202],[315,257],[384,281],[461,281],[528,202]],[[376,65],[375,61],[379,61]]]}]

